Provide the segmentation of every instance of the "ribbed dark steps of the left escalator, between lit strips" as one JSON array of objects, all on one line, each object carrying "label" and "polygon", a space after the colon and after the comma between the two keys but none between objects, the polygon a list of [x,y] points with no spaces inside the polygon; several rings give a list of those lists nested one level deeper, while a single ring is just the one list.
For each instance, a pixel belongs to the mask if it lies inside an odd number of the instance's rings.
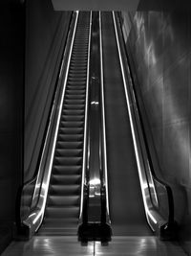
[{"label": "ribbed dark steps of the left escalator, between lit strips", "polygon": [[43,224],[38,234],[76,234],[81,195],[89,13],[80,13],[57,134]]}]

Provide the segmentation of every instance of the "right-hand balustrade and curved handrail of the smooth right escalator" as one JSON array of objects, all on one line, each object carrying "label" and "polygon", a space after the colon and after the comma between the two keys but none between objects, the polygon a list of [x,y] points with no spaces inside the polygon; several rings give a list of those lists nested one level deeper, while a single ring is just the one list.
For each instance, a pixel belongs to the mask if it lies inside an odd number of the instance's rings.
[{"label": "right-hand balustrade and curved handrail of the smooth right escalator", "polygon": [[[141,185],[141,191],[142,191],[142,196],[143,196],[143,202],[144,202],[144,207],[145,207],[145,213],[146,213],[146,217],[147,217],[147,221],[149,222],[151,228],[156,231],[156,227],[158,226],[159,229],[161,228],[166,228],[168,226],[168,224],[172,224],[174,223],[174,202],[173,202],[173,195],[172,195],[172,190],[170,188],[169,185],[167,185],[166,183],[164,183],[163,181],[159,180],[157,178],[156,175],[154,175],[154,170],[153,170],[153,166],[150,165],[149,161],[151,160],[150,157],[148,157],[148,148],[145,149],[145,137],[142,134],[142,130],[140,128],[142,128],[142,124],[140,123],[140,116],[138,116],[140,113],[138,112],[138,107],[136,107],[135,105],[138,104],[138,102],[136,101],[136,95],[135,95],[135,91],[134,91],[134,87],[133,87],[133,80],[130,74],[130,67],[129,67],[129,62],[127,61],[127,53],[125,52],[125,47],[124,47],[124,40],[123,38],[120,40],[122,40],[122,49],[123,49],[123,54],[125,55],[125,57],[122,58],[122,54],[121,54],[121,49],[119,46],[119,39],[118,39],[118,33],[117,33],[117,21],[116,21],[116,15],[115,12],[113,12],[113,18],[114,18],[114,24],[115,24],[115,31],[116,31],[116,36],[117,36],[117,47],[118,47],[118,55],[119,55],[119,59],[120,59],[120,63],[122,63],[123,61],[125,61],[125,64],[128,67],[128,74],[126,78],[125,76],[125,72],[123,70],[123,64],[121,64],[121,71],[122,71],[122,77],[123,77],[123,81],[124,81],[124,89],[125,89],[125,94],[126,94],[126,99],[127,99],[127,106],[128,106],[128,111],[129,111],[129,117],[130,117],[130,124],[131,124],[131,129],[132,129],[132,135],[133,135],[133,141],[134,141],[134,146],[135,146],[135,152],[136,152],[136,157],[137,157],[137,163],[138,163],[138,175],[139,175],[139,179],[140,179],[140,185]],[[121,34],[121,31],[120,31]],[[124,59],[125,58],[125,59]],[[126,80],[128,80],[131,84],[130,89],[127,88],[126,84]],[[145,134],[144,134],[145,135]],[[143,140],[142,140],[143,137]],[[143,143],[143,145],[141,144],[141,142]],[[142,148],[143,147],[143,148]],[[142,150],[144,149],[144,150]],[[145,154],[142,151],[146,151],[146,159],[145,159]],[[147,165],[147,168],[146,168]],[[144,171],[142,170],[144,169]],[[142,178],[143,177],[143,178]],[[152,185],[153,185],[153,189],[155,190],[155,184],[153,179],[156,179],[159,184],[161,184],[164,188],[165,191],[167,193],[167,198],[168,198],[168,220],[165,221],[163,219],[162,216],[160,216],[159,212],[157,211],[153,200],[152,200],[152,195],[151,195],[151,191],[150,191],[150,184],[148,182],[148,178],[151,179],[152,181]],[[147,188],[148,188],[148,194],[146,194],[146,190],[145,190],[145,184],[144,182],[147,183]],[[148,198],[149,196],[149,198]],[[161,230],[160,230],[161,231]]]}]

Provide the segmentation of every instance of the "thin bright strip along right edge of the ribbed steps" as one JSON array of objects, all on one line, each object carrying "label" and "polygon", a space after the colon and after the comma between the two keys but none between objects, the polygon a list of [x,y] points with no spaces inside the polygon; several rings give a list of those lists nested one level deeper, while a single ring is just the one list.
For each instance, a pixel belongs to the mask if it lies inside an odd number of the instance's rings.
[{"label": "thin bright strip along right edge of the ribbed steps", "polygon": [[[91,47],[91,34],[92,34],[92,12],[90,13],[90,29],[88,39],[88,60],[87,60],[87,76],[86,76],[86,108],[85,108],[85,120],[84,120],[84,141],[83,141],[83,165],[82,165],[82,177],[81,177],[81,200],[80,200],[80,213],[79,219],[81,219],[83,210],[83,185],[85,183],[86,173],[86,140],[87,140],[87,121],[88,121],[88,103],[89,103],[89,76],[90,76],[90,47]],[[95,104],[95,103],[94,103]]]}]

